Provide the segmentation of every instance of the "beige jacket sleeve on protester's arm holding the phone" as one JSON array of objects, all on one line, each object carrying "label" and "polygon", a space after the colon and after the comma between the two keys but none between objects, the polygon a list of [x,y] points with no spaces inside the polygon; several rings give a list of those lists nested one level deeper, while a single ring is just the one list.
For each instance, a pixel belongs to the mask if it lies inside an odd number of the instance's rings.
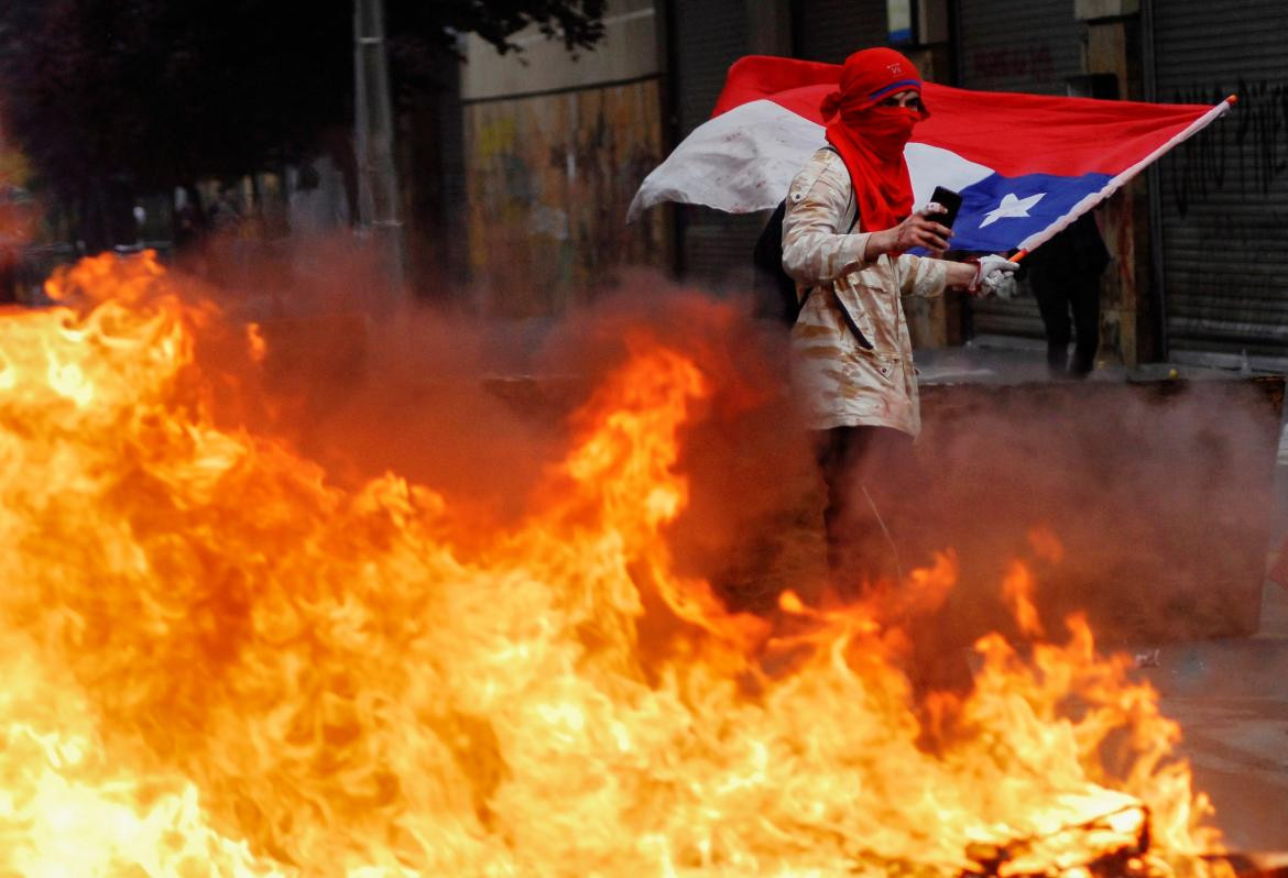
[{"label": "beige jacket sleeve on protester's arm holding the phone", "polygon": [[826,283],[867,265],[868,234],[838,232],[849,229],[850,197],[850,174],[831,149],[815,152],[792,180],[783,215],[783,270],[797,283]]}]

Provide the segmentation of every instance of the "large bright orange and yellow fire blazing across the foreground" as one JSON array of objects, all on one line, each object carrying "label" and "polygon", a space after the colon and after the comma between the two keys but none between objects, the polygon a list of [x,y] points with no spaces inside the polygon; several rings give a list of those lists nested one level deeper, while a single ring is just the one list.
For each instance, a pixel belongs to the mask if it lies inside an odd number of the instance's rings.
[{"label": "large bright orange and yellow fire blazing across the foreground", "polygon": [[223,424],[228,323],[174,285],[103,256],[0,315],[0,874],[1220,874],[1176,726],[1077,619],[927,709],[880,608],[679,575],[681,351],[641,333],[522,521],[466,534]]}]

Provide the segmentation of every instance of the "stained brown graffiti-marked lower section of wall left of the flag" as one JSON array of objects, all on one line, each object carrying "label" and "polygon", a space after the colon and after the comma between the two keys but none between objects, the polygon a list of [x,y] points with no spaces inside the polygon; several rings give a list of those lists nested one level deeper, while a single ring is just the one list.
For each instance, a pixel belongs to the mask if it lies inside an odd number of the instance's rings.
[{"label": "stained brown graffiti-marked lower section of wall left of the flag", "polygon": [[626,225],[662,157],[656,80],[466,107],[471,274],[492,314],[547,315],[665,257],[663,214]]}]

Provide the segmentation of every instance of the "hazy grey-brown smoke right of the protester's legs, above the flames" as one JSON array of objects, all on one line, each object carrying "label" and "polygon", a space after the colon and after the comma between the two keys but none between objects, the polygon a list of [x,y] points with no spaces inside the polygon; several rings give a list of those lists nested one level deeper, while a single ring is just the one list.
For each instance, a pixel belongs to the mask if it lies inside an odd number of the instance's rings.
[{"label": "hazy grey-brown smoke right of the protester's legs, above the flames", "polygon": [[[1101,642],[1256,631],[1279,411],[1274,381],[958,385],[925,394],[922,457],[962,560],[956,600],[988,592],[1036,527],[1048,631],[1084,612]],[[1032,552],[1029,552],[1032,554]],[[994,619],[987,617],[993,615]]]}]

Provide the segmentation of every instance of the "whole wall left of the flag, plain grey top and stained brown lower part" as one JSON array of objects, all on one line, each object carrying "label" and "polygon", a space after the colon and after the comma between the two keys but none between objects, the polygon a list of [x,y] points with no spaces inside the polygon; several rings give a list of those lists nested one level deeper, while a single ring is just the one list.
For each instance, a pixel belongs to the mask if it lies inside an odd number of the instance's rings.
[{"label": "whole wall left of the flag, plain grey top and stained brown lower part", "polygon": [[666,211],[626,225],[626,207],[665,157],[657,15],[614,0],[605,37],[569,55],[540,33],[520,55],[474,39],[462,70],[466,234],[478,308],[565,312],[623,265],[668,268]]}]

